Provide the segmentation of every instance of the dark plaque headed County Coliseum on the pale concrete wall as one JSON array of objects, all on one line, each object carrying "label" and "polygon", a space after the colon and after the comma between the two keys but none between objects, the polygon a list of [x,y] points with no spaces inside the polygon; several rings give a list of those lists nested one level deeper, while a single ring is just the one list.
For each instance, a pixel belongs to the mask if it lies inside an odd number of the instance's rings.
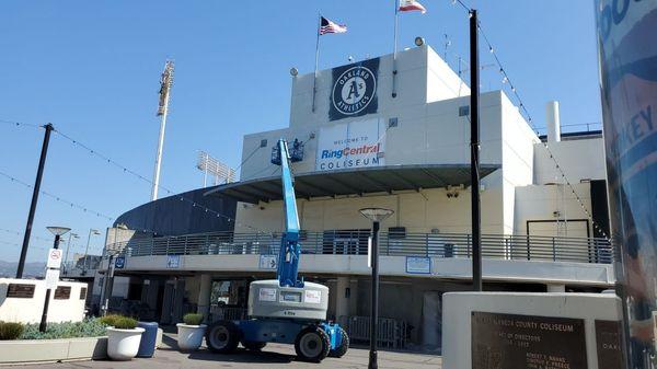
[{"label": "dark plaque headed County Coliseum on the pale concrete wall", "polygon": [[583,319],[472,312],[472,369],[587,369]]}]

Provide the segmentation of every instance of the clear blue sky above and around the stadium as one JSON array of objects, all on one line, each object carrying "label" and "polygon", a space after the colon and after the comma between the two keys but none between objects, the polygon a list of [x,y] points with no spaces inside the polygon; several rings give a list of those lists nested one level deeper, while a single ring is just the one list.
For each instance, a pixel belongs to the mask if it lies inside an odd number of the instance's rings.
[{"label": "clear blue sky above and around the stadium", "polygon": [[[592,1],[480,0],[486,35],[538,126],[544,103],[561,101],[562,124],[600,122]],[[0,119],[43,125],[152,176],[159,76],[175,60],[162,184],[198,187],[198,150],[232,166],[242,136],[287,126],[290,67],[313,69],[318,12],[346,23],[322,37],[320,68],[392,51],[393,0],[365,1],[21,1],[0,4]],[[424,0],[403,14],[400,48],[417,35],[448,61],[468,58],[468,18],[451,0]],[[482,65],[491,64],[482,46]],[[495,67],[484,90],[504,88]],[[0,123],[0,172],[33,183],[43,130]],[[138,206],[150,186],[54,135],[44,191],[112,217]],[[0,176],[0,260],[16,261],[32,192]],[[83,252],[90,228],[100,253],[107,219],[42,196],[28,261],[44,260],[45,227],[72,228]],[[9,230],[5,231],[5,230]],[[15,234],[12,232],[18,232]],[[43,239],[42,239],[43,238]]]}]

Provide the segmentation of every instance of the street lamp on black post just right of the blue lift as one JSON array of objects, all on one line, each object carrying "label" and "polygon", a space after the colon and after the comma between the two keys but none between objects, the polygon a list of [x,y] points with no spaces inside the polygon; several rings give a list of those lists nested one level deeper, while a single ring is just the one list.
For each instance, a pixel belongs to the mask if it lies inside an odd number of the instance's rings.
[{"label": "street lamp on black post just right of the blue lift", "polygon": [[379,368],[377,361],[377,327],[379,323],[379,226],[380,222],[390,217],[394,211],[383,208],[364,208],[358,210],[367,219],[372,221],[370,260],[372,265],[372,309],[370,320],[370,356],[368,369]]}]

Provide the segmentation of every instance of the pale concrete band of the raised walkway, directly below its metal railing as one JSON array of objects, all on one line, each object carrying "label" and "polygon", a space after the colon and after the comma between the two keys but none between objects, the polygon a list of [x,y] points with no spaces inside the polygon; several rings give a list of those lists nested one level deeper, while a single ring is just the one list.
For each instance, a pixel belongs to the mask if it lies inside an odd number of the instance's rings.
[{"label": "pale concrete band of the raised walkway, directly below its metal railing", "polygon": [[[231,272],[239,275],[258,274],[275,278],[276,270],[260,268],[260,255],[181,255],[181,267],[166,268],[166,256],[129,257],[125,270],[184,272]],[[315,255],[304,254],[299,263],[299,273],[304,275],[369,275],[366,255]],[[471,279],[472,262],[469,258],[431,257],[431,274],[406,273],[404,256],[381,256],[380,273],[383,276],[413,278]],[[575,286],[611,287],[615,279],[613,266],[608,264],[540,262],[540,261],[483,261],[483,276],[486,280],[523,281]]]}]

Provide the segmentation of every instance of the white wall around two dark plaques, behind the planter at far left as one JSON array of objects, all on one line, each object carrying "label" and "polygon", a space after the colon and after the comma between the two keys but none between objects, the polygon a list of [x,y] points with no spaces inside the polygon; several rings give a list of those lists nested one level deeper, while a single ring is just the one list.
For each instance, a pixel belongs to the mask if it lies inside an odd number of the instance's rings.
[{"label": "white wall around two dark plaques, behind the planter at far left", "polygon": [[[34,285],[33,298],[7,298],[10,284]],[[55,290],[50,292],[48,322],[80,322],[84,318],[84,299],[80,299],[80,289],[84,282],[60,281],[57,286],[71,288],[67,300],[55,300]],[[91,291],[87,291],[91,293]],[[46,298],[45,280],[0,278],[0,321],[38,323],[41,322]]]}]

